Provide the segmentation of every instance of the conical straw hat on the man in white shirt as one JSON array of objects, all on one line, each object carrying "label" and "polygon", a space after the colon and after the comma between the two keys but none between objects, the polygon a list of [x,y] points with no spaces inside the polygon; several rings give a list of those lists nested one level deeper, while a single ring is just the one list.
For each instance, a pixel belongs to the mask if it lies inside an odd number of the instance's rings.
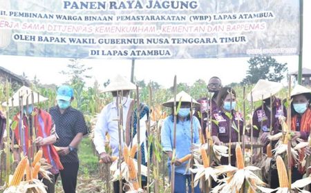
[{"label": "conical straw hat on the man in white shirt", "polygon": [[131,81],[126,80],[120,74],[111,81],[109,85],[107,85],[102,92],[113,92],[118,90],[135,90],[136,85],[131,83]]}]

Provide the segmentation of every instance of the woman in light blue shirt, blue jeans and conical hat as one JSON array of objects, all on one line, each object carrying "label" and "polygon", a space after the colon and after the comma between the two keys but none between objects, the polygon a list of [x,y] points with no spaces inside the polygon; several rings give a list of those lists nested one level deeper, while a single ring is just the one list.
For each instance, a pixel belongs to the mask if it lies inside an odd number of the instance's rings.
[{"label": "woman in light blue shirt, blue jeans and conical hat", "polygon": [[[181,98],[180,98],[181,97]],[[178,159],[190,154],[191,148],[191,121],[190,121],[190,113],[191,113],[191,101],[194,106],[198,106],[199,103],[192,99],[189,94],[186,92],[180,92],[176,95],[176,100],[181,99],[180,110],[177,115],[177,124],[176,124],[176,161],[175,161],[175,185],[174,192],[177,193],[185,193],[187,191],[187,186],[189,188],[189,192],[191,192],[191,174],[186,172],[187,161],[184,163],[180,163]],[[162,148],[164,152],[169,157],[168,167],[169,174],[171,174],[171,159],[173,156],[173,132],[174,132],[174,110],[173,110],[173,99],[163,103],[165,107],[172,108],[171,115],[167,116],[164,119],[162,130],[161,130],[161,141]],[[176,104],[177,106],[177,104]],[[200,130],[200,123],[196,116],[192,116],[192,124],[193,124],[193,141],[192,143],[200,143],[198,130]],[[194,187],[194,192],[200,192],[200,187],[197,185]]]}]

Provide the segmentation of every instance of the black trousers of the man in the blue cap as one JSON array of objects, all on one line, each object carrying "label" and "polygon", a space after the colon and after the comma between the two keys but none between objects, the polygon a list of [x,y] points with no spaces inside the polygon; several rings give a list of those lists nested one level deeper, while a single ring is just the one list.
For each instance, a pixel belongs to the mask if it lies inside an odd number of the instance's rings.
[{"label": "black trousers of the man in the blue cap", "polygon": [[[63,190],[65,193],[75,193],[77,186],[77,172],[79,170],[79,162],[76,163],[62,163],[64,170],[60,170],[62,178]],[[59,174],[55,175],[55,181]]]}]

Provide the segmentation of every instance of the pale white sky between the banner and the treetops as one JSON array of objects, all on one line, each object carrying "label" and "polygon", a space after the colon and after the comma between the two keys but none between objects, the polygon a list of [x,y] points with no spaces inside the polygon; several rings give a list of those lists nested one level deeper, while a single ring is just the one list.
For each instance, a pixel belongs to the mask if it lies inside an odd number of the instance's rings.
[{"label": "pale white sky between the banner and the treetops", "polygon": [[[303,68],[311,69],[311,1],[304,1],[303,12]],[[288,63],[288,72],[298,70],[298,56],[274,57],[279,63]],[[177,76],[178,83],[191,85],[198,79],[208,81],[210,77],[220,77],[223,85],[239,83],[246,77],[249,58],[221,58],[221,59],[162,59],[162,60],[135,60],[135,79],[145,82],[156,81],[164,88],[173,85],[173,77]],[[68,80],[64,74],[59,72],[66,70],[68,59],[40,58],[0,55],[0,66],[7,68],[15,74],[26,74],[31,80],[37,76],[40,83],[55,83],[61,85]],[[106,60],[106,59],[81,59],[86,67],[92,67],[88,75],[92,78],[87,81],[93,85],[97,80],[104,83],[113,79],[115,75],[131,77],[131,60]]]}]

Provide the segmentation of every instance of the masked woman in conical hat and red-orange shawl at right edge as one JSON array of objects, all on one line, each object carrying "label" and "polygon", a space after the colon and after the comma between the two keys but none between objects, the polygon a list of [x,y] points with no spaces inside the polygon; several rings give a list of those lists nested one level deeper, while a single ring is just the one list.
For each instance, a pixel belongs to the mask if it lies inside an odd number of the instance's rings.
[{"label": "masked woman in conical hat and red-orange shawl at right edge", "polygon": [[[311,90],[301,85],[296,85],[292,90],[291,98],[291,129],[294,131],[294,138],[300,138],[304,141],[308,141],[311,127]],[[310,152],[310,150],[307,151]],[[300,161],[298,168],[296,166],[292,167],[292,182],[301,179],[303,173],[305,173],[305,168],[301,165],[301,161],[303,161],[304,156],[304,150],[299,152]]]}]

